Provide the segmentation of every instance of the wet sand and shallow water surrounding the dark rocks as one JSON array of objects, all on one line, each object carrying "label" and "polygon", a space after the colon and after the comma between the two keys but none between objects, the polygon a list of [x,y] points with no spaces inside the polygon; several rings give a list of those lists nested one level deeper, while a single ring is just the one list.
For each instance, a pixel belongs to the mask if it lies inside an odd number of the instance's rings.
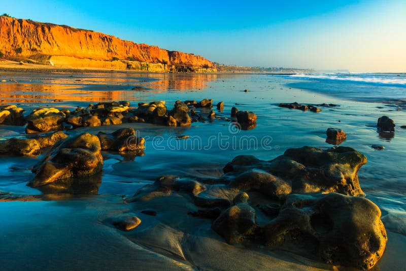
[{"label": "wet sand and shallow water surrounding the dark rocks", "polygon": [[[20,66],[32,70],[17,71]],[[190,216],[188,212],[196,211],[195,207],[176,193],[145,202],[123,201],[162,175],[219,178],[224,166],[238,155],[268,161],[290,148],[331,148],[333,145],[326,142],[329,127],[347,134],[340,146],[353,148],[367,158],[357,172],[359,185],[365,198],[381,210],[388,235],[385,253],[373,270],[402,269],[405,264],[406,129],[400,127],[406,125],[404,74],[107,73],[63,67],[54,70],[52,66],[37,72],[34,64],[17,63],[0,65],[3,68],[12,70],[0,72],[0,80],[5,80],[0,83],[1,106],[16,105],[25,115],[37,107],[73,112],[77,107],[108,101],[129,101],[137,108],[139,103],[164,100],[169,109],[177,100],[213,99],[214,105],[213,109],[200,109],[205,121],[185,127],[134,122],[66,130],[69,137],[75,137],[83,132],[112,133],[129,127],[145,139],[145,154],[130,159],[118,152],[102,151],[103,170],[89,194],[42,193],[26,184],[32,178],[30,168],[44,154],[3,155],[0,191],[10,193],[0,197],[5,201],[0,203],[0,214],[7,220],[0,226],[0,265],[6,269],[53,269],[62,264],[64,269],[345,269],[284,249],[229,245],[212,230],[209,220]],[[224,107],[216,109],[221,101]],[[314,105],[321,111],[279,107],[294,102]],[[254,112],[256,125],[235,128],[232,107]],[[209,119],[206,116],[211,110],[215,117]],[[394,120],[394,133],[377,131],[377,120],[382,116]],[[24,133],[24,126],[0,126],[1,140]],[[142,210],[156,210],[158,214],[151,216]],[[112,225],[111,217],[128,212],[141,219],[140,226],[124,232]],[[258,212],[257,216],[262,219]]]}]

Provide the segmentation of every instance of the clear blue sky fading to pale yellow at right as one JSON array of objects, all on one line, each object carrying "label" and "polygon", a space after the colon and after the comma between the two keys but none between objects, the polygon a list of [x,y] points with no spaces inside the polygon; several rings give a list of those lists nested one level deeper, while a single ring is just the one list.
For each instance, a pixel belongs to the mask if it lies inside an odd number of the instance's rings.
[{"label": "clear blue sky fading to pale yellow at right", "polygon": [[240,66],[406,72],[406,0],[0,0],[0,14]]}]

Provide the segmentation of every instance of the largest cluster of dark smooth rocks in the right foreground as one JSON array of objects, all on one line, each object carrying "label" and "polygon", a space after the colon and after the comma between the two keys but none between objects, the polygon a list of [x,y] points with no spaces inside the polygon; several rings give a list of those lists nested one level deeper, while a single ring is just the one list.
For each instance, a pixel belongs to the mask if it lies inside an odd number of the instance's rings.
[{"label": "largest cluster of dark smooth rocks in the right foreground", "polygon": [[357,171],[365,162],[347,147],[289,149],[270,161],[242,155],[219,178],[163,176],[126,201],[176,194],[191,201],[191,216],[211,219],[229,244],[289,248],[329,264],[369,269],[382,257],[387,235],[379,208],[358,197]]}]

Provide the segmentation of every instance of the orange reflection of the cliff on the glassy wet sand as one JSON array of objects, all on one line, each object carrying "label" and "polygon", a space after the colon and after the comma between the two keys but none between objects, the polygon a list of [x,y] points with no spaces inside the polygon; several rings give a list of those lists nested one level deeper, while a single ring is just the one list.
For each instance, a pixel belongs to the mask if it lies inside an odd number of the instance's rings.
[{"label": "orange reflection of the cliff on the glassy wet sand", "polygon": [[[55,99],[88,103],[136,101],[148,93],[204,89],[217,79],[215,74],[55,73],[52,76],[0,73],[2,79],[7,79],[7,82],[0,83],[0,103],[49,103]],[[139,89],[132,90],[134,87]]]}]

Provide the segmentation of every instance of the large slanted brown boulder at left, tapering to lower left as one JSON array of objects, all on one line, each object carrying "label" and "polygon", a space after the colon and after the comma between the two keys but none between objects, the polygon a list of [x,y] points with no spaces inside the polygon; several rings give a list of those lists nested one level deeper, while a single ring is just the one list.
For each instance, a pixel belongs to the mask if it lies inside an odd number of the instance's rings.
[{"label": "large slanted brown boulder at left, tapering to lower left", "polygon": [[60,140],[33,167],[35,176],[28,185],[38,187],[60,179],[97,174],[103,166],[100,150],[99,139],[89,133]]}]

